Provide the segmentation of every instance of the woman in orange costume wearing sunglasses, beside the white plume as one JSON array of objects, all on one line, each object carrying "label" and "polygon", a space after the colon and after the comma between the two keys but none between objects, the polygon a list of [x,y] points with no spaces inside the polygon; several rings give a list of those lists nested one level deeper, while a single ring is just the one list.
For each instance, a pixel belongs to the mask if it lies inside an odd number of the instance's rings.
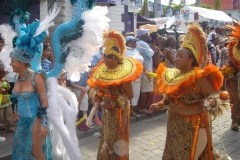
[{"label": "woman in orange costume wearing sunglasses, beside the white plume", "polygon": [[129,159],[129,100],[133,98],[132,81],[140,77],[140,62],[124,57],[123,36],[110,31],[104,34],[104,59],[96,66],[88,80],[102,97],[102,136],[98,160]]}]

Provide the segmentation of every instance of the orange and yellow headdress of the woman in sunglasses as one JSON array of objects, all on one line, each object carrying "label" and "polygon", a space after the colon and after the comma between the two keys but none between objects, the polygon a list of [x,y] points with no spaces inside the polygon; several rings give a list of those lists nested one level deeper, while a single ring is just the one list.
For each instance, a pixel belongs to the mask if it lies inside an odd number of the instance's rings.
[{"label": "orange and yellow headdress of the woman in sunglasses", "polygon": [[[126,42],[122,34],[117,31],[108,31],[103,34],[105,54],[113,54],[119,59],[122,59],[126,52]],[[118,51],[113,50],[113,47],[117,47]]]}]

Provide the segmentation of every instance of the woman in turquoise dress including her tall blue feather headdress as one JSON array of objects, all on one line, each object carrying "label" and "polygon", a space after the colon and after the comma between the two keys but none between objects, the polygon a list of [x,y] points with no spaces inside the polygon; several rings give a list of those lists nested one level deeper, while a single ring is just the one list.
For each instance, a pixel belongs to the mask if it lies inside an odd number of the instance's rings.
[{"label": "woman in turquoise dress including her tall blue feather headdress", "polygon": [[[14,6],[11,2],[16,2]],[[26,1],[25,1],[26,2]],[[30,5],[32,1],[26,2]],[[13,160],[52,160],[52,142],[49,132],[47,107],[48,98],[45,86],[45,74],[42,70],[30,70],[34,56],[41,55],[42,42],[46,36],[46,27],[33,22],[28,27],[24,22],[29,18],[26,12],[29,6],[19,1],[8,1],[5,13],[10,13],[10,25],[17,33],[15,47],[10,53],[15,86],[12,94],[17,98],[14,119],[17,127],[13,139]]]}]

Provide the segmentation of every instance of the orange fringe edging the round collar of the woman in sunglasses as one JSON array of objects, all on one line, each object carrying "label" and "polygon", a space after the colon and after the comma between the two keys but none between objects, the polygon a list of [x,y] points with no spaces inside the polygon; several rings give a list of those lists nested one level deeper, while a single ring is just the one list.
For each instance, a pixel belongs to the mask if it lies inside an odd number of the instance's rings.
[{"label": "orange fringe edging the round collar of the woman in sunglasses", "polygon": [[96,67],[94,67],[94,69],[92,70],[92,74],[90,75],[90,78],[88,79],[88,85],[91,87],[91,88],[96,88],[96,87],[108,87],[110,85],[113,85],[113,86],[118,86],[122,83],[126,83],[126,82],[132,82],[132,81],[135,81],[136,79],[138,79],[141,74],[142,74],[142,71],[143,71],[143,65],[138,62],[137,60],[131,58],[132,61],[135,62],[135,65],[136,65],[136,71],[130,76],[130,77],[127,77],[127,78],[122,78],[122,79],[118,79],[118,80],[115,80],[115,81],[111,81],[111,82],[102,82],[100,80],[96,80],[96,81],[93,81],[92,77],[93,77],[93,73],[96,71],[96,69],[104,63],[104,60],[102,60]]}]

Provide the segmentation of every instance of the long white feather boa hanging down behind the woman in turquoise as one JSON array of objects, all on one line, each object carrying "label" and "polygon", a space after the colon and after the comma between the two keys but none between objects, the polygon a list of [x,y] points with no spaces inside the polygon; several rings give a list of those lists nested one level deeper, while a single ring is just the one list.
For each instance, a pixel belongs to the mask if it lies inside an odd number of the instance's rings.
[{"label": "long white feather boa hanging down behind the woman in turquoise", "polygon": [[[78,139],[76,136],[77,99],[68,89],[58,86],[54,77],[47,79],[48,103],[47,115],[53,125],[53,151],[57,157],[64,160],[81,160]],[[67,101],[66,101],[67,99]],[[56,101],[57,100],[57,101]],[[59,136],[60,135],[60,136]],[[59,141],[59,137],[61,137]],[[63,142],[63,145],[60,142]],[[64,154],[61,155],[60,153]]]}]

